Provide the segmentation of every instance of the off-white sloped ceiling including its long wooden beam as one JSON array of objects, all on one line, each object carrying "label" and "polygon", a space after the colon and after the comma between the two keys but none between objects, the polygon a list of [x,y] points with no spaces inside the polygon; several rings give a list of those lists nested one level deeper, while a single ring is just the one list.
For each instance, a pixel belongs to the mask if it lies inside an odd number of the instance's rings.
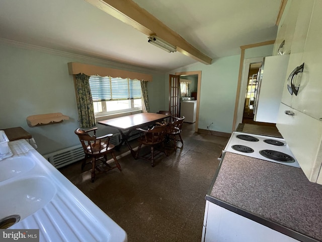
[{"label": "off-white sloped ceiling including its long wooden beam", "polygon": [[[237,55],[276,37],[285,0],[2,0],[0,43],[43,47],[157,71]],[[177,46],[147,42],[156,34]]]}]

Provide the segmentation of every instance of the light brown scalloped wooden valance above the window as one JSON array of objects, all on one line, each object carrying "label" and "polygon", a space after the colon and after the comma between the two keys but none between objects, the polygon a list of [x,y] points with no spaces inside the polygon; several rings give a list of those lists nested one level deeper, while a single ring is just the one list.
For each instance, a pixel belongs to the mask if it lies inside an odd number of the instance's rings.
[{"label": "light brown scalloped wooden valance above the window", "polygon": [[129,72],[126,70],[112,69],[107,67],[98,67],[76,62],[68,63],[68,72],[70,75],[84,73],[87,76],[98,75],[101,77],[121,77],[123,79],[130,78],[132,80],[137,79],[140,81],[152,81],[152,75],[149,74]]}]

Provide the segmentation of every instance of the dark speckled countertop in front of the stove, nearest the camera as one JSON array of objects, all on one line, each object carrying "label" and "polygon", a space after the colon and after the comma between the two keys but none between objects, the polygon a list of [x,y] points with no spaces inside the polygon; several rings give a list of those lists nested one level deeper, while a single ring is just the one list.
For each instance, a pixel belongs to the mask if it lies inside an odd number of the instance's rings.
[{"label": "dark speckled countertop in front of the stove, nearest the camera", "polygon": [[206,199],[300,241],[322,241],[322,186],[300,168],[226,152]]}]

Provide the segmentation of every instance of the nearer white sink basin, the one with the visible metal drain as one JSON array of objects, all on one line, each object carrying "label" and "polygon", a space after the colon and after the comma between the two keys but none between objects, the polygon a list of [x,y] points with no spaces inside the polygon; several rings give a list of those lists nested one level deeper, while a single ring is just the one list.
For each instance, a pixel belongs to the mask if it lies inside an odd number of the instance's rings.
[{"label": "nearer white sink basin, the one with the visible metal drain", "polygon": [[0,194],[0,220],[12,215],[22,220],[44,207],[56,194],[56,188],[47,177],[35,176],[0,186]]}]

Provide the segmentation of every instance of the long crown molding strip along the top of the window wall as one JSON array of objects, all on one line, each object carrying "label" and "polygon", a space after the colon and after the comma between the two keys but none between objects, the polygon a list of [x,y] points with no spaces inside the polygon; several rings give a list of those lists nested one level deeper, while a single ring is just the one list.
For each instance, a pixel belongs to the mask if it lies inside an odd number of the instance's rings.
[{"label": "long crown molding strip along the top of the window wall", "polygon": [[23,42],[5,39],[5,38],[0,38],[0,44],[14,46],[14,47],[22,48],[22,49],[36,50],[39,52],[58,55],[58,56],[62,56],[62,57],[76,58],[76,59],[79,59],[82,61],[94,62],[96,64],[107,65],[112,68],[122,68],[122,69],[126,69],[126,70],[131,70],[131,71],[135,71],[135,72],[143,72],[143,73],[148,73],[148,74],[164,74],[165,73],[163,71],[135,67],[135,66],[131,66],[128,64],[122,64],[122,63],[118,63],[118,62],[114,62],[114,61],[108,61],[106,59],[100,59],[100,58],[90,57],[90,56],[86,56],[86,55],[65,52],[65,51],[61,51],[61,50],[57,50],[57,49],[46,48],[46,47],[42,47],[42,46],[38,46],[38,45],[23,43]]}]

